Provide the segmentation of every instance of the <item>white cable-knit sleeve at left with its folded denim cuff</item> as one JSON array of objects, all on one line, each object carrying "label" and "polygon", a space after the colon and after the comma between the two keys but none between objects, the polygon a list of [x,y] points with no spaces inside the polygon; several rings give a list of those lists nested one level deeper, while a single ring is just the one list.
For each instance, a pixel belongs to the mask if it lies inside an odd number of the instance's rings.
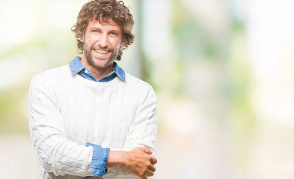
[{"label": "white cable-knit sleeve at left with its folded denim cuff", "polygon": [[30,135],[42,168],[56,176],[103,176],[109,149],[86,147],[66,137],[53,89],[49,80],[36,76],[28,93]]}]

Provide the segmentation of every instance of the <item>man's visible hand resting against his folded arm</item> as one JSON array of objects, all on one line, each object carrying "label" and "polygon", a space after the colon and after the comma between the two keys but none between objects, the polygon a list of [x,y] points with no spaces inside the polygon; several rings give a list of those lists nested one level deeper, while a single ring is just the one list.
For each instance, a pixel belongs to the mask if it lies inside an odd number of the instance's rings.
[{"label": "man's visible hand resting against his folded arm", "polygon": [[123,167],[130,173],[140,177],[141,179],[147,179],[154,175],[157,159],[151,157],[151,154],[147,147],[138,147],[134,150],[127,152],[126,160]]}]

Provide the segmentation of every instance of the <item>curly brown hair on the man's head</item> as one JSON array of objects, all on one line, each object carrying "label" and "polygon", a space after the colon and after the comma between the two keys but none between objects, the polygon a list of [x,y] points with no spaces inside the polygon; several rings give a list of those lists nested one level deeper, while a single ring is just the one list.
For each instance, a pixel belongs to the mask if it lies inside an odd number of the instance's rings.
[{"label": "curly brown hair on the man's head", "polygon": [[126,7],[122,0],[93,0],[83,5],[77,16],[77,22],[72,27],[72,32],[75,35],[77,41],[77,48],[83,52],[84,43],[80,41],[83,38],[89,21],[98,20],[102,25],[108,25],[111,18],[114,23],[120,25],[123,30],[123,48],[119,51],[119,55],[116,60],[121,60],[123,51],[130,44],[134,42],[134,34],[132,34],[133,15],[130,13],[128,7]]}]

